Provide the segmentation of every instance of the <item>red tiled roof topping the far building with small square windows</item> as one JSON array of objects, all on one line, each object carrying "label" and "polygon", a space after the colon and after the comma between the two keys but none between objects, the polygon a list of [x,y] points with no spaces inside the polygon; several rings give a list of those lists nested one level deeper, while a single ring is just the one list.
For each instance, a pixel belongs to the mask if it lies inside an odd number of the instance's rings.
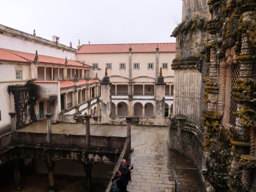
[{"label": "red tiled roof topping the far building with small square windows", "polygon": [[132,52],[175,52],[176,43],[134,43],[134,44],[84,44],[76,53],[127,53]]}]

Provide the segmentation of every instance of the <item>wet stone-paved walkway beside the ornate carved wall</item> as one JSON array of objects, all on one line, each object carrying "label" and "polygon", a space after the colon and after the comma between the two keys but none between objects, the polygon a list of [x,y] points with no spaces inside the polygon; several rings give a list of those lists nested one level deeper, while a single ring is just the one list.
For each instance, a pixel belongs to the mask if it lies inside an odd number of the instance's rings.
[{"label": "wet stone-paved walkway beside the ornate carved wall", "polygon": [[[128,162],[133,164],[130,192],[174,192],[174,167],[194,168],[192,161],[168,149],[168,128],[132,126],[132,147]],[[198,170],[176,170],[182,192],[204,191]]]}]

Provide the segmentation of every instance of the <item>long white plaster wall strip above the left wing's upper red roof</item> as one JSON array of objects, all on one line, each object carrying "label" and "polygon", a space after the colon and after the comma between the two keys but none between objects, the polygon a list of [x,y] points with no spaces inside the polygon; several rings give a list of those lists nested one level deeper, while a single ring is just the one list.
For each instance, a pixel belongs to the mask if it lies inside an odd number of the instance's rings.
[{"label": "long white plaster wall strip above the left wing's upper red roof", "polygon": [[[0,34],[0,48],[75,60],[74,53]],[[15,45],[15,46],[14,46]]]}]

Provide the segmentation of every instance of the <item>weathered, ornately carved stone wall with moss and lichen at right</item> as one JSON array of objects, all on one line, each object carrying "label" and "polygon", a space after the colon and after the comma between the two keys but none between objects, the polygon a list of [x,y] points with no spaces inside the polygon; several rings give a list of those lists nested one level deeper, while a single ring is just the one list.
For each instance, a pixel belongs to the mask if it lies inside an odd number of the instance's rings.
[{"label": "weathered, ornately carved stone wall with moss and lichen at right", "polygon": [[[190,156],[198,168],[205,165],[207,192],[256,191],[255,12],[255,0],[183,0],[184,21],[173,32],[176,103],[170,138],[176,135],[176,140],[170,148]],[[192,80],[186,70],[202,74]],[[198,119],[186,104],[194,86],[201,90],[194,98]],[[186,145],[192,140],[188,133],[202,144],[196,154],[203,162],[191,154],[194,146]]]}]

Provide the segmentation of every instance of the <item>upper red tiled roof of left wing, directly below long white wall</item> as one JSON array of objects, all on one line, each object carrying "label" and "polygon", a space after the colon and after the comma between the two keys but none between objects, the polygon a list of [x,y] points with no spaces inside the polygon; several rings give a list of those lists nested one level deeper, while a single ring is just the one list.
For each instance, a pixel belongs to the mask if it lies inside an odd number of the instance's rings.
[{"label": "upper red tiled roof of left wing, directly below long white wall", "polygon": [[[34,61],[36,54],[24,53],[6,49],[0,49],[0,60],[4,61],[18,61],[18,62],[29,62]],[[38,55],[39,63],[50,63],[50,64],[62,64],[65,65],[66,60],[62,58],[50,57]],[[83,66],[81,62],[74,60],[67,60],[68,66]],[[91,68],[91,66],[86,65],[86,67]]]}]

